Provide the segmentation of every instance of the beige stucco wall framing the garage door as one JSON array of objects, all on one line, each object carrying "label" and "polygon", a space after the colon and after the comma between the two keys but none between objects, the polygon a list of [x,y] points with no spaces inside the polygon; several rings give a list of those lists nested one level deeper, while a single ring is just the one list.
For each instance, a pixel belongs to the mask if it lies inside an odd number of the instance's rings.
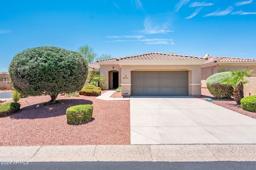
[{"label": "beige stucco wall framing the garage door", "polygon": [[201,95],[200,65],[122,65],[122,94],[128,91],[128,95],[131,95],[131,71],[188,71],[188,94],[190,96]]}]

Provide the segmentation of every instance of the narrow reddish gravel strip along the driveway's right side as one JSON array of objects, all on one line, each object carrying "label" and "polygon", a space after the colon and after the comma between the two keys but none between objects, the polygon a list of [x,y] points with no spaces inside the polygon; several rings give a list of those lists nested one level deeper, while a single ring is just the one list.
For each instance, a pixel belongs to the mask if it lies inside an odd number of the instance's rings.
[{"label": "narrow reddish gravel strip along the driveway's right side", "polygon": [[202,95],[201,97],[198,97],[199,99],[205,100],[205,99],[214,99],[214,101],[208,101],[210,103],[214,103],[215,105],[219,105],[221,107],[225,107],[227,109],[230,109],[232,111],[241,113],[243,115],[246,115],[248,117],[251,117],[253,119],[256,119],[256,113],[252,113],[249,111],[245,111],[240,107],[239,105],[236,105],[236,102],[234,99],[217,99],[211,95],[211,93],[206,88],[202,88]]}]

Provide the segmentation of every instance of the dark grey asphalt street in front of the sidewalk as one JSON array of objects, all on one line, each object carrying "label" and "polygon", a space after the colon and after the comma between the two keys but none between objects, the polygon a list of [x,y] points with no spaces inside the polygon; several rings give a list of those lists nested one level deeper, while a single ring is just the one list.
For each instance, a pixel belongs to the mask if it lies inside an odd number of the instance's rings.
[{"label": "dark grey asphalt street in front of the sidewalk", "polygon": [[255,170],[256,162],[28,162],[1,170]]}]

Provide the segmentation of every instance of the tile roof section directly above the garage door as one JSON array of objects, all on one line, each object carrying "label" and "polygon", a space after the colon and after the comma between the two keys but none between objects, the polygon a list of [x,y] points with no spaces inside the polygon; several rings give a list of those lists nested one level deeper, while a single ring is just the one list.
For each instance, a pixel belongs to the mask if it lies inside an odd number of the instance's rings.
[{"label": "tile roof section directly above the garage door", "polygon": [[179,55],[168,53],[144,53],[139,55],[131,55],[121,57],[119,60],[177,60],[177,59],[205,59],[203,57],[196,57],[192,55]]}]

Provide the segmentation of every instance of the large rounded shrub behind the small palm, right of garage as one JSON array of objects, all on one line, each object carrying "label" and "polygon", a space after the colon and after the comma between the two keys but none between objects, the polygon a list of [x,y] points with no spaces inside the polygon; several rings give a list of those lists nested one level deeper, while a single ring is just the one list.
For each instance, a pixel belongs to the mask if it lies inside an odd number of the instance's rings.
[{"label": "large rounded shrub behind the small palm, right of garage", "polygon": [[206,79],[206,86],[210,93],[220,99],[220,98],[225,98],[229,99],[231,98],[233,88],[228,87],[227,85],[222,85],[221,82],[223,79],[226,77],[230,76],[230,72],[221,72],[221,73],[216,73],[214,75],[211,75]]}]

